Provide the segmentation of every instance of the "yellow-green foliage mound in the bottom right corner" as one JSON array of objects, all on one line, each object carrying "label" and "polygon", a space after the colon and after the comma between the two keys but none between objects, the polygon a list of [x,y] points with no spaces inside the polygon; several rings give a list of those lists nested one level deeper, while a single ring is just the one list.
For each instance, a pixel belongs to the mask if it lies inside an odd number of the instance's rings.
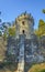
[{"label": "yellow-green foliage mound in the bottom right corner", "polygon": [[33,65],[29,72],[45,72],[45,63]]}]

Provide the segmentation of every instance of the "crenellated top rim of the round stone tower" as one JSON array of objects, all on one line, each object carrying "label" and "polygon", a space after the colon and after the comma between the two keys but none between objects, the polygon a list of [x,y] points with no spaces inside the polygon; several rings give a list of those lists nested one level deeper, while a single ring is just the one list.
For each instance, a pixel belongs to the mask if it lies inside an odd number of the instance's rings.
[{"label": "crenellated top rim of the round stone tower", "polygon": [[26,11],[25,12],[23,12],[23,13],[21,13],[21,16],[19,16],[18,18],[16,18],[16,21],[21,21],[21,20],[30,20],[31,22],[33,22],[33,24],[34,24],[34,19],[33,19],[33,17],[32,17],[32,14],[31,13],[26,13]]}]

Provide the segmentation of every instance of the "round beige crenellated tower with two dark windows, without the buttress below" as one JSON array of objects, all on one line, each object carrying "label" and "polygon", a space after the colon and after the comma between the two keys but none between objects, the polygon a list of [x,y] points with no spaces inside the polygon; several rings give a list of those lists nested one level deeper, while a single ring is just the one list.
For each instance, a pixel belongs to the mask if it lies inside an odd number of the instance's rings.
[{"label": "round beige crenellated tower with two dark windows, without the buttress below", "polygon": [[25,34],[26,39],[31,38],[31,34],[33,34],[33,27],[34,27],[34,19],[31,14],[24,12],[15,20],[16,25],[16,38],[19,38],[19,34]]}]

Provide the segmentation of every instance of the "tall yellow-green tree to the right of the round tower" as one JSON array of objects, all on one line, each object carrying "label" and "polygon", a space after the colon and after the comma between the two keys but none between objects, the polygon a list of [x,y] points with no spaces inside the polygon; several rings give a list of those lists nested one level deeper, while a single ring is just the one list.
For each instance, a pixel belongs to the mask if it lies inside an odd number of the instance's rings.
[{"label": "tall yellow-green tree to the right of the round tower", "polygon": [[38,22],[38,29],[35,30],[35,34],[38,37],[45,35],[45,22],[42,19]]}]

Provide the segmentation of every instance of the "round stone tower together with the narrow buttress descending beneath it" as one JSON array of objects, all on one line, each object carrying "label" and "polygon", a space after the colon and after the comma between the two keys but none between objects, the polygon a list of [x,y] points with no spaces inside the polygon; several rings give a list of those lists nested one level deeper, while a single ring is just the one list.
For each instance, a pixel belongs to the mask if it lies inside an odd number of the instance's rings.
[{"label": "round stone tower together with the narrow buttress descending beneath it", "polygon": [[19,64],[18,64],[18,72],[25,72],[24,71],[24,63],[25,63],[25,39],[31,39],[32,34],[34,33],[34,19],[31,14],[24,12],[15,20],[16,27],[16,39],[20,39],[20,52],[19,52]]}]

